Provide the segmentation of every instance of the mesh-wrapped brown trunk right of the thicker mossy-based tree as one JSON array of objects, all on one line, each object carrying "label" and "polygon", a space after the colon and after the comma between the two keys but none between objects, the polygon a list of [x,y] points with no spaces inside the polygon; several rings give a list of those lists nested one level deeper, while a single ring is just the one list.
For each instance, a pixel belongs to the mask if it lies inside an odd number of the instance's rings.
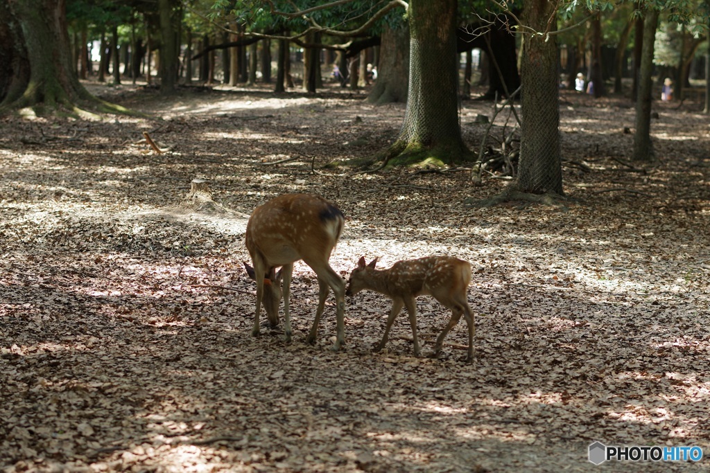
[{"label": "mesh-wrapped brown trunk right of the thicker mossy-based tree", "polygon": [[[555,29],[555,2],[525,1],[523,23],[546,32]],[[527,35],[523,44],[523,123],[520,127],[520,164],[515,188],[532,194],[562,195],[559,145],[559,91],[555,36]]]}]

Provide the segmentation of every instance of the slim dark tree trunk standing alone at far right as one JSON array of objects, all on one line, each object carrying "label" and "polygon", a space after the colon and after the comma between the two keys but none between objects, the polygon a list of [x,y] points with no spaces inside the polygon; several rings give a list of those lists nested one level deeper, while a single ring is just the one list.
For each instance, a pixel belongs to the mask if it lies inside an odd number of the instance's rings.
[{"label": "slim dark tree trunk standing alone at far right", "polygon": [[639,71],[638,99],[636,101],[636,131],[633,137],[633,159],[652,161],[651,143],[651,101],[653,72],[653,43],[656,38],[658,11],[647,9],[643,24],[643,48],[641,49],[641,67]]}]

